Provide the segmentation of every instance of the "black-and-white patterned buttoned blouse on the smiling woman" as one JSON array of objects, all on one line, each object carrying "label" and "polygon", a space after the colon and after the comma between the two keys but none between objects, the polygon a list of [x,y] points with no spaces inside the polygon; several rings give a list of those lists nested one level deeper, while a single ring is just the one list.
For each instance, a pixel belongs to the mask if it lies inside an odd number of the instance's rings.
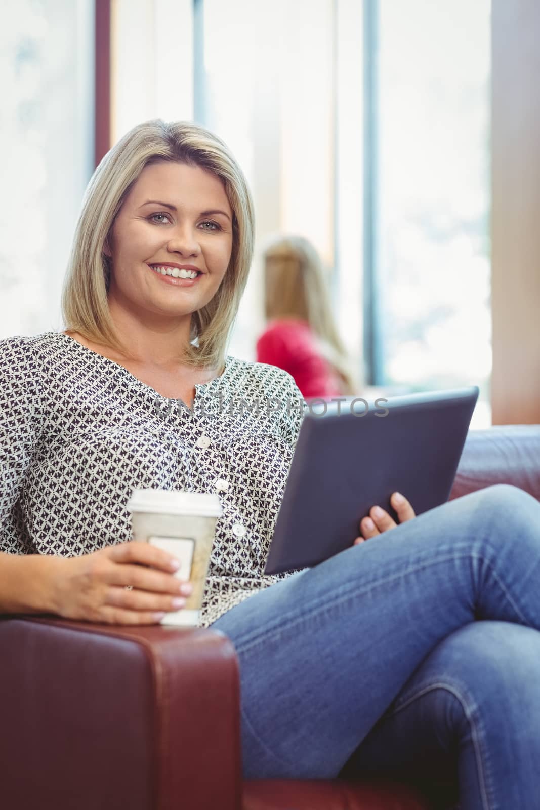
[{"label": "black-and-white patterned buttoned blouse on the smiling woman", "polygon": [[0,340],[0,551],[78,556],[131,539],[134,488],[218,492],[202,625],[288,576],[262,571],[304,400],[227,357],[190,408],[63,332]]}]

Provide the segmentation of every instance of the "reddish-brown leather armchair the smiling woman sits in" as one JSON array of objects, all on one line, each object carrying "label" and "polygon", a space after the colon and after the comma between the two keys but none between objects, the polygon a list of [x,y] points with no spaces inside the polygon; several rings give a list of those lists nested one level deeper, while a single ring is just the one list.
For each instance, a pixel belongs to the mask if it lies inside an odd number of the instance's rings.
[{"label": "reddish-brown leather armchair the smiling woman sits in", "polygon": [[[452,497],[540,499],[540,427],[469,434]],[[356,779],[243,782],[234,648],[210,630],[0,620],[3,810],[428,810]]]}]

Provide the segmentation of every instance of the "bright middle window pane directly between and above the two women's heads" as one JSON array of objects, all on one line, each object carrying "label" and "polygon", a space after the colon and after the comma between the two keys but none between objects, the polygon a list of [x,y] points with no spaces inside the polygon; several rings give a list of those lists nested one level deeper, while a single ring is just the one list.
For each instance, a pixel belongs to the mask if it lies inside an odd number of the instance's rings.
[{"label": "bright middle window pane directly between and above the two women's heads", "polygon": [[259,257],[293,232],[334,267],[334,2],[203,0],[205,118],[240,161],[257,212],[256,256],[231,352],[253,359]]}]

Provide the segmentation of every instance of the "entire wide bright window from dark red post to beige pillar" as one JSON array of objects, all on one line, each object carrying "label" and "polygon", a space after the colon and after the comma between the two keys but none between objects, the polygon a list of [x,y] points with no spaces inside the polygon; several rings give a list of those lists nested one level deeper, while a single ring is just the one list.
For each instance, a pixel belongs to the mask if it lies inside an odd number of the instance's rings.
[{"label": "entire wide bright window from dark red post to beige pillar", "polygon": [[478,382],[488,423],[490,11],[113,0],[113,143],[151,117],[201,122],[253,191],[233,354],[253,359],[263,326],[266,238],[297,232],[325,262],[360,377],[388,392]]}]

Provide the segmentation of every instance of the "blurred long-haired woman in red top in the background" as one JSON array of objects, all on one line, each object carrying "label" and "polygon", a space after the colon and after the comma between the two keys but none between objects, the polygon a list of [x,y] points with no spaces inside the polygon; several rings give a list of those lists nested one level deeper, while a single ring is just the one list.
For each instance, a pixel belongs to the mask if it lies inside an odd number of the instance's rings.
[{"label": "blurred long-haired woman in red top in the background", "polygon": [[269,324],[257,361],[288,371],[305,399],[355,393],[317,250],[304,237],[274,237],[263,259]]}]

